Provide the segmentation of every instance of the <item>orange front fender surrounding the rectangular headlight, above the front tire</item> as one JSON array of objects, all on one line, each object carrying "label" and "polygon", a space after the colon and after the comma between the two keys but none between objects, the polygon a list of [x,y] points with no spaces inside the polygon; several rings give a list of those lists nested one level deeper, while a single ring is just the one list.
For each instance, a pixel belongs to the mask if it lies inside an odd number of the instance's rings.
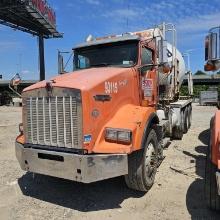
[{"label": "orange front fender surrounding the rectangular headlight, above the front tire", "polygon": [[[142,137],[146,132],[146,124],[153,114],[155,114],[155,109],[152,107],[124,105],[102,127],[92,151],[94,153],[131,153],[139,150],[143,142]],[[104,137],[106,127],[131,130],[132,143],[126,145],[107,142]]]}]

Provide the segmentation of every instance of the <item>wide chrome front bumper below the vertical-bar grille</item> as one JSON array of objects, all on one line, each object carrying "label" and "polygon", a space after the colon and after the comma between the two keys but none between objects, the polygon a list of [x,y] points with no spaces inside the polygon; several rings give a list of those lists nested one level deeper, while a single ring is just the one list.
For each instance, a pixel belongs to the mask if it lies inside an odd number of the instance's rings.
[{"label": "wide chrome front bumper below the vertical-bar grille", "polygon": [[79,155],[26,148],[15,143],[16,157],[22,170],[91,183],[128,173],[126,154]]}]

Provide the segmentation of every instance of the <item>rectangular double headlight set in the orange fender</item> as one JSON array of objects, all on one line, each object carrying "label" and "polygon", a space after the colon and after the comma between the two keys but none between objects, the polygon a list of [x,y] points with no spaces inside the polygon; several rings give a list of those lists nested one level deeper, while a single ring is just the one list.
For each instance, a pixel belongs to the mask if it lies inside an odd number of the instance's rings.
[{"label": "rectangular double headlight set in the orange fender", "polygon": [[106,128],[105,139],[107,141],[130,144],[132,140],[132,132],[127,129]]}]

